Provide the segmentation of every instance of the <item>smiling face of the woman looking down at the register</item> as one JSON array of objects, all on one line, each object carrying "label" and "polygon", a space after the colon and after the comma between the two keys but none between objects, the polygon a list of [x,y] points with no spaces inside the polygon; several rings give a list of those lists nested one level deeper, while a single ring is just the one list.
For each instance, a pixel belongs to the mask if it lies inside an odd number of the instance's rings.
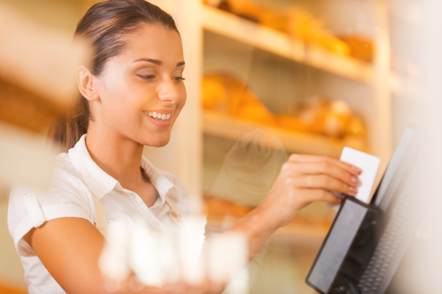
[{"label": "smiling face of the woman looking down at the register", "polygon": [[94,124],[147,146],[165,146],[186,102],[181,38],[161,25],[143,25],[97,77]]}]

